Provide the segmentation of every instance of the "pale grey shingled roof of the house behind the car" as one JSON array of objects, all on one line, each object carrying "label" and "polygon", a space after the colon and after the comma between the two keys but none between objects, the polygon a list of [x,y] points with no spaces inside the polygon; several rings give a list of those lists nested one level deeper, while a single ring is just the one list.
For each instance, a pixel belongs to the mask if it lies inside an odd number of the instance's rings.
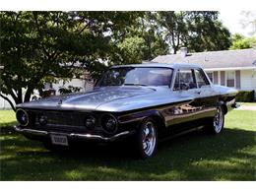
[{"label": "pale grey shingled roof of the house behind the car", "polygon": [[195,63],[205,70],[256,69],[256,49],[238,49],[160,55],[152,60],[154,63]]}]

